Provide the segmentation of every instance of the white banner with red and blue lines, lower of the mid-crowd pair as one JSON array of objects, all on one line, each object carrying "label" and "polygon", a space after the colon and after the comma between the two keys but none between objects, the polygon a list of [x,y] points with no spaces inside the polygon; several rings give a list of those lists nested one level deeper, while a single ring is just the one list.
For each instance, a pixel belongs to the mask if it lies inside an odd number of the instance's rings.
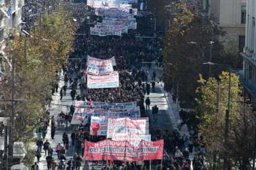
[{"label": "white banner with red and blue lines, lower of the mid-crowd pair", "polygon": [[109,75],[95,76],[87,75],[88,89],[104,89],[119,87],[119,74],[114,72]]}]

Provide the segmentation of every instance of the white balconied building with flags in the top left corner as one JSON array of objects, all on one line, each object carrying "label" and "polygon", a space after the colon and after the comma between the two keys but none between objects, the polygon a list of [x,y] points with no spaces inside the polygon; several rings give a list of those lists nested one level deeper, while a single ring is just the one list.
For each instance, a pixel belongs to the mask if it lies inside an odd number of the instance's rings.
[{"label": "white balconied building with flags in the top left corner", "polygon": [[[24,0],[0,0],[0,71],[4,72],[4,65],[8,62],[8,57],[4,53],[6,41],[10,31],[20,31],[21,13]],[[0,74],[1,76],[1,74]]]}]

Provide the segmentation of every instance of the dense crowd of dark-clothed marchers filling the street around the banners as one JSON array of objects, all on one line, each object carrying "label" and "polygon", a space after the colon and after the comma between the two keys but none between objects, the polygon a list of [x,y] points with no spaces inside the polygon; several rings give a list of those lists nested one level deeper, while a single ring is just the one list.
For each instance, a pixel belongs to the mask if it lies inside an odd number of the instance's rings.
[{"label": "dense crowd of dark-clothed marchers filling the street around the banners", "polygon": [[[35,3],[35,1],[33,2]],[[28,3],[28,9],[33,9],[33,3]],[[152,78],[149,80],[147,71],[141,68],[141,62],[160,62],[161,61],[161,46],[162,42],[159,39],[154,38],[136,38],[136,36],[157,36],[152,27],[143,30],[143,24],[139,25],[138,31],[129,30],[128,34],[122,35],[122,37],[107,36],[98,37],[90,36],[90,25],[88,20],[92,19],[93,8],[84,6],[83,4],[74,4],[77,6],[76,15],[79,29],[77,33],[85,33],[83,36],[77,36],[74,42],[76,50],[70,54],[69,63],[63,66],[64,85],[58,86],[60,81],[59,74],[56,73],[56,82],[52,84],[52,95],[60,93],[60,99],[67,94],[67,89],[70,89],[70,97],[74,100],[87,100],[87,101],[100,101],[108,103],[126,103],[136,101],[140,106],[141,116],[146,117],[150,114],[150,107],[154,115],[158,113],[157,106],[150,104],[150,99],[145,99],[145,94],[155,91],[156,85],[156,73],[153,73]],[[35,8],[34,13],[38,13]],[[79,14],[80,13],[80,14]],[[88,18],[90,16],[90,18]],[[26,16],[25,16],[26,17]],[[144,17],[144,18],[148,18]],[[26,18],[29,22],[33,22],[33,17]],[[31,21],[29,21],[31,20]],[[140,20],[140,19],[139,19]],[[27,23],[28,27],[29,24]],[[93,24],[91,22],[90,24]],[[33,25],[33,24],[31,24]],[[28,30],[28,29],[27,29]],[[118,71],[120,76],[120,87],[114,89],[87,89],[86,87],[86,56],[90,55],[98,59],[109,59],[115,57],[116,66],[115,71]],[[77,60],[79,58],[79,60]],[[150,64],[148,64],[150,66]],[[160,75],[158,75],[160,76]],[[145,108],[146,106],[146,108]],[[67,169],[79,169],[82,163],[82,157],[84,155],[84,141],[102,141],[106,139],[106,136],[92,136],[90,135],[90,125],[81,122],[80,125],[71,126],[70,122],[74,115],[75,106],[70,106],[68,113],[61,113],[58,117],[49,117],[48,120],[44,120],[42,127],[38,128],[38,140],[36,141],[37,162],[40,162],[42,157],[42,150],[47,155],[46,162],[48,169],[61,169],[67,162],[65,168]],[[51,122],[51,124],[50,124]],[[62,143],[51,147],[51,144],[45,139],[47,133],[47,127],[51,127],[51,138],[54,139],[56,127],[65,124],[66,129],[63,132]],[[154,122],[150,122],[154,124]],[[150,126],[150,134],[152,135],[152,141],[164,139],[164,159],[163,169],[169,170],[189,170],[191,164],[193,169],[205,170],[204,167],[204,155],[205,148],[200,145],[200,136],[196,132],[190,134],[190,136],[182,135],[179,131],[161,131],[160,129],[154,129]],[[41,136],[42,135],[42,136]],[[65,153],[68,148],[74,149],[74,155],[72,159],[66,159]],[[53,157],[53,153],[57,153],[59,161],[56,161]],[[58,162],[58,164],[57,164]],[[101,162],[90,162],[93,165],[101,164]],[[112,169],[143,169],[147,167],[149,169],[149,161],[145,162],[120,162],[109,161],[108,167]],[[33,170],[37,169],[38,165],[33,164]],[[160,169],[161,161],[153,160],[152,168]]]}]

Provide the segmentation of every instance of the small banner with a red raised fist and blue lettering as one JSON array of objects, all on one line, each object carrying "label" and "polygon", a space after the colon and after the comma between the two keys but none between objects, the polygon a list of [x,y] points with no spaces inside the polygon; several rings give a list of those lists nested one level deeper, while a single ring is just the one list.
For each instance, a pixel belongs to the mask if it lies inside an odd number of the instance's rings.
[{"label": "small banner with a red raised fist and blue lettering", "polygon": [[90,135],[106,136],[108,129],[108,117],[91,117]]}]

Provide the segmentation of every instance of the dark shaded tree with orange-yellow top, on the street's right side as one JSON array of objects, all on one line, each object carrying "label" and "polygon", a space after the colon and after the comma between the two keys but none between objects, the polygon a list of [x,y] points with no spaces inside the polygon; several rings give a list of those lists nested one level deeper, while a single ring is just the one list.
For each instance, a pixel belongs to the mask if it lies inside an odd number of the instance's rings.
[{"label": "dark shaded tree with orange-yellow top, on the street's right side", "polygon": [[[221,63],[225,57],[223,46],[218,41],[218,37],[223,35],[223,32],[218,25],[212,24],[204,17],[200,10],[191,10],[186,3],[173,4],[173,6],[177,15],[164,38],[164,83],[166,90],[171,90],[172,86],[179,82],[180,104],[193,108],[198,75],[208,73],[208,67],[203,67],[202,63],[209,61],[211,48],[209,42],[214,41],[212,62]],[[191,41],[198,44],[189,44]]]}]

